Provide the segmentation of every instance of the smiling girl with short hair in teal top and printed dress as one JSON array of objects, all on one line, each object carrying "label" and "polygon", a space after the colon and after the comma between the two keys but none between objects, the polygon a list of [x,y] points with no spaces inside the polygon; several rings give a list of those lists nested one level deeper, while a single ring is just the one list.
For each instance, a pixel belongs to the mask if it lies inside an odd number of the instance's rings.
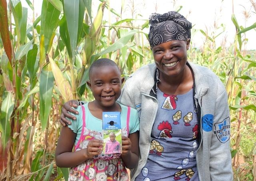
[{"label": "smiling girl with short hair in teal top and printed dress", "polygon": [[[56,165],[72,167],[69,180],[128,181],[126,168],[138,165],[139,119],[136,109],[116,102],[124,78],[115,62],[99,59],[89,70],[88,86],[94,101],[78,106],[76,121],[62,127],[56,147]],[[102,112],[120,111],[122,154],[102,153]],[[75,143],[75,151],[72,152]]]}]

